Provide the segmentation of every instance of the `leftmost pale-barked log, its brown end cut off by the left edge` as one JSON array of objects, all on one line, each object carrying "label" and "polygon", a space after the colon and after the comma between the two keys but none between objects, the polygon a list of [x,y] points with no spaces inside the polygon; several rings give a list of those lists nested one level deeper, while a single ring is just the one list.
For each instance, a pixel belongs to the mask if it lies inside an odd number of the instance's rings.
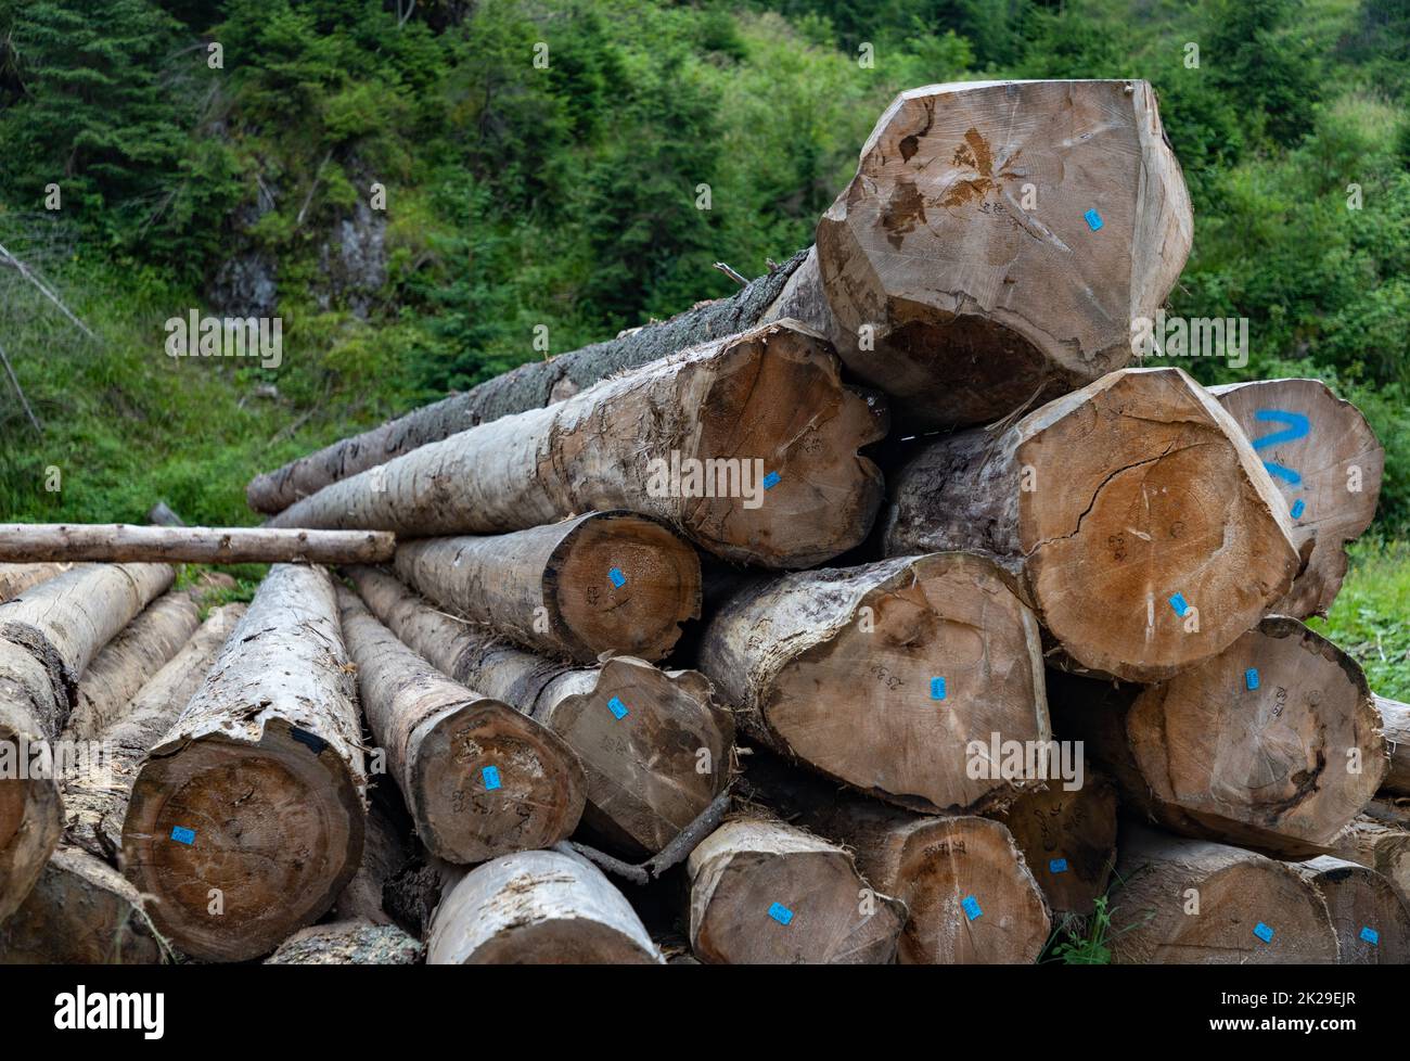
[{"label": "leftmost pale-barked log, its brown end cut off by the left edge", "polygon": [[166,564],[87,564],[0,605],[0,748],[18,773],[0,777],[0,920],[59,841],[58,782],[30,769],[30,746],[62,732],[89,662],[173,578]]}]

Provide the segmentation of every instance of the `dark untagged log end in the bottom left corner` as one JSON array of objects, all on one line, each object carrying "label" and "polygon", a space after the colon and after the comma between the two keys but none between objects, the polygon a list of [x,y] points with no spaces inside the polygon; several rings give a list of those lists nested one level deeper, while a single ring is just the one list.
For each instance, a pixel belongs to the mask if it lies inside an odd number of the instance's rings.
[{"label": "dark untagged log end in the bottom left corner", "polygon": [[155,965],[165,957],[137,889],[78,848],[54,852],[34,890],[0,923],[0,962]]}]

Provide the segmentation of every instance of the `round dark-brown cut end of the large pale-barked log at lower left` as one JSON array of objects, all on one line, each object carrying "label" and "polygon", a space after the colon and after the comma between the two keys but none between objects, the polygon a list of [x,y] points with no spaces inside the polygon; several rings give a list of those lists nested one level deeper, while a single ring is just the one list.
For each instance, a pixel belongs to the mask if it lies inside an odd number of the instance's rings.
[{"label": "round dark-brown cut end of the large pale-barked log at lower left", "polygon": [[345,760],[271,718],[257,742],[216,731],[154,749],[133,786],[123,865],[185,952],[244,961],[333,904],[357,872],[362,828]]}]

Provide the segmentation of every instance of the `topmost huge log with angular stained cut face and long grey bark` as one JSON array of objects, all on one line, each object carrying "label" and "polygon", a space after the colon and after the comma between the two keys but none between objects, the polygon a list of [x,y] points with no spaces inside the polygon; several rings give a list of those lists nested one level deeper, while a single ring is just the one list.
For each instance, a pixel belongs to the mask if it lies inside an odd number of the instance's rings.
[{"label": "topmost huge log with angular stained cut face and long grey bark", "polygon": [[1146,82],[915,89],[877,123],[815,248],[732,298],[520,365],[259,475],[250,507],[279,512],[426,443],[784,316],[826,336],[908,428],[998,419],[1127,364],[1131,320],[1165,301],[1191,230]]}]

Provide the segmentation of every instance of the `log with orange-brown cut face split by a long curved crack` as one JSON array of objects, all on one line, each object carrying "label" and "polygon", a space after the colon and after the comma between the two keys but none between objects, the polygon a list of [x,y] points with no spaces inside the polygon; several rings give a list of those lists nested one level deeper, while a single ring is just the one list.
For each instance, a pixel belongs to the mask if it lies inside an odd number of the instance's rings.
[{"label": "log with orange-brown cut face split by a long curved crack", "polygon": [[1179,368],[1112,372],[1001,435],[932,442],[891,490],[888,556],[998,557],[1077,665],[1131,681],[1224,650],[1297,571],[1286,504]]}]

